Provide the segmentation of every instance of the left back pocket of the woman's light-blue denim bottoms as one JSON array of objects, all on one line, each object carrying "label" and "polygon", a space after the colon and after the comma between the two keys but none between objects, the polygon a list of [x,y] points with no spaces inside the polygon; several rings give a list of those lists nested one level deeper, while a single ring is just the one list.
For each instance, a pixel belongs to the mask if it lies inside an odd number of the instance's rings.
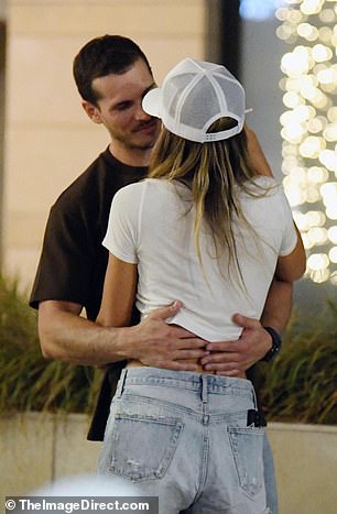
[{"label": "left back pocket of the woman's light-blue denim bottoms", "polygon": [[180,419],[116,414],[110,470],[133,481],[161,479],[183,430]]}]

